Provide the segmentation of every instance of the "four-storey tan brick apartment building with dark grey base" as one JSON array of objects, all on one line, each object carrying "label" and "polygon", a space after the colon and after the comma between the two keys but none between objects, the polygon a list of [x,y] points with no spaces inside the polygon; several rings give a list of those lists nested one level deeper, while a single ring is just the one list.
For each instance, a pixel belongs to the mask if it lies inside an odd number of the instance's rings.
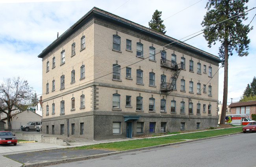
[{"label": "four-storey tan brick apartment building with dark grey base", "polygon": [[218,57],[94,7],[38,56],[43,133],[88,139],[218,124]]}]

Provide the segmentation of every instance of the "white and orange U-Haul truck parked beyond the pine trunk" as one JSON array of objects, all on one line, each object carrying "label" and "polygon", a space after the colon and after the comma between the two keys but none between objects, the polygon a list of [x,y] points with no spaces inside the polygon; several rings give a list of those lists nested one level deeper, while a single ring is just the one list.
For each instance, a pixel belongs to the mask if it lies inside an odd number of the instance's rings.
[{"label": "white and orange U-Haul truck parked beyond the pine trunk", "polygon": [[247,125],[249,122],[256,122],[250,119],[249,114],[226,114],[226,124]]}]

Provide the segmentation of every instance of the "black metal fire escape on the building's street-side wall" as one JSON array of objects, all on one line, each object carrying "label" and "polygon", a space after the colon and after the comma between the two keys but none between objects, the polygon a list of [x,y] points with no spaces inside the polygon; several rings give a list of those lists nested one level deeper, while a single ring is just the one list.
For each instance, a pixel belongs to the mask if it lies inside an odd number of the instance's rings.
[{"label": "black metal fire escape on the building's street-side wall", "polygon": [[180,74],[180,71],[182,70],[182,68],[184,68],[184,64],[182,63],[177,64],[174,61],[161,59],[161,67],[173,70],[173,74],[171,76],[171,79],[169,80],[169,83],[161,81],[161,85],[160,85],[162,92],[172,92],[176,84],[176,81],[178,79],[178,76]]}]

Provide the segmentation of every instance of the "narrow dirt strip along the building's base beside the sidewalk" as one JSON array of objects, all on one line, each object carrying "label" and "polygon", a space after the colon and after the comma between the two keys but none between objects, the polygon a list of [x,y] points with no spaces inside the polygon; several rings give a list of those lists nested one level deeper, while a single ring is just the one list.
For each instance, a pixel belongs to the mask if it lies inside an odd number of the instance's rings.
[{"label": "narrow dirt strip along the building's base beside the sidewalk", "polygon": [[[217,127],[209,127],[206,129],[194,129],[194,130],[183,130],[178,133],[188,133],[188,132],[198,132],[198,131],[203,131],[203,130],[211,130],[211,129],[220,129],[220,128],[231,128],[234,127],[230,124],[219,124]],[[143,134],[143,135],[138,135],[136,136],[136,138],[148,138],[148,137],[154,137],[154,136],[163,136],[163,135],[167,135],[167,133],[160,133],[160,134]]]}]

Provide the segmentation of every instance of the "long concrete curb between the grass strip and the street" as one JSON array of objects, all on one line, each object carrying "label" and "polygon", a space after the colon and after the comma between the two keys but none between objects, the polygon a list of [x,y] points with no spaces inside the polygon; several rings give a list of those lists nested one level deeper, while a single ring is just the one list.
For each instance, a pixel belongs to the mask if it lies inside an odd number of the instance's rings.
[{"label": "long concrete curb between the grass strip and the street", "polygon": [[78,158],[68,158],[68,159],[63,159],[63,160],[54,160],[54,161],[46,161],[46,162],[39,162],[39,163],[29,163],[29,164],[23,165],[23,167],[41,167],[41,166],[46,166],[46,165],[56,165],[58,163],[69,163],[69,162],[74,162],[74,161],[89,160],[89,159],[92,159],[92,158],[100,158],[100,157],[105,157],[105,156],[110,156],[110,155],[115,155],[115,154],[121,154],[121,153],[126,153],[126,152],[154,149],[154,148],[165,147],[165,146],[170,146],[170,145],[190,143],[190,142],[193,142],[193,141],[220,138],[220,137],[230,136],[230,135],[235,135],[235,134],[240,134],[240,133],[243,133],[243,132],[236,132],[236,133],[232,133],[232,134],[223,134],[223,135],[220,135],[220,136],[212,136],[212,137],[208,137],[208,138],[192,139],[192,140],[186,140],[186,141],[180,141],[180,142],[168,143],[168,144],[162,144],[162,145],[154,145],[154,146],[143,147],[143,148],[138,148],[138,149],[116,151],[116,152],[97,154],[97,155],[91,155],[91,156],[83,156],[83,157],[78,157]]}]

